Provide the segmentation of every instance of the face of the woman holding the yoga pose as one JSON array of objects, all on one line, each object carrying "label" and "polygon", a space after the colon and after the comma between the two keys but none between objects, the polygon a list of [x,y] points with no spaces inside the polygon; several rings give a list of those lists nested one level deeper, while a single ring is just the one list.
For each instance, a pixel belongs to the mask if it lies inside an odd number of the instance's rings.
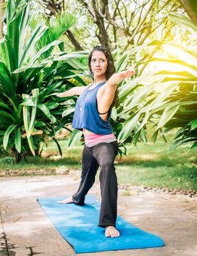
[{"label": "face of the woman holding the yoga pose", "polygon": [[103,52],[99,50],[95,50],[93,52],[90,67],[92,69],[94,78],[105,76],[107,71],[107,58]]}]

